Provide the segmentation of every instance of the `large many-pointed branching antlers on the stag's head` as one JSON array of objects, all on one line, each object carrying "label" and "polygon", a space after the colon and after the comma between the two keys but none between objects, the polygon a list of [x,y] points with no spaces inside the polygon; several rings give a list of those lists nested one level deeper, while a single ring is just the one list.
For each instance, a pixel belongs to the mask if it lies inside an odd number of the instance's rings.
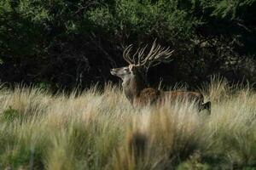
[{"label": "large many-pointed branching antlers on the stag's head", "polygon": [[144,65],[146,67],[159,65],[161,62],[169,62],[172,59],[172,53],[174,50],[170,50],[170,47],[163,48],[159,44],[156,45],[156,40],[154,40],[151,49],[148,54],[145,55],[145,49],[148,47],[146,45],[144,48],[138,48],[136,53],[131,56],[132,45],[125,48],[123,57],[130,65]]}]

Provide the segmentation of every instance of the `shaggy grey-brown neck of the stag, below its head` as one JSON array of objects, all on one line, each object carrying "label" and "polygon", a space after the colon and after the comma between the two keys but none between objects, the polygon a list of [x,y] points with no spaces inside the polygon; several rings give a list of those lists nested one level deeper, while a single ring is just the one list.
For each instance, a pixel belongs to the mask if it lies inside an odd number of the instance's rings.
[{"label": "shaggy grey-brown neck of the stag, below its head", "polygon": [[126,80],[124,79],[122,85],[125,96],[130,100],[131,104],[133,103],[133,100],[139,96],[141,91],[148,87],[143,77],[139,77],[137,75],[129,77]]}]

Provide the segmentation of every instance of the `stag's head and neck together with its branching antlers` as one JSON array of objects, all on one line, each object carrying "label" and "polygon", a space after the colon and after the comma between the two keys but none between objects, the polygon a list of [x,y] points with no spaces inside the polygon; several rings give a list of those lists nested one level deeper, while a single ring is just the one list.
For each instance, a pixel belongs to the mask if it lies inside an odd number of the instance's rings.
[{"label": "stag's head and neck together with its branching antlers", "polygon": [[160,45],[156,45],[155,42],[149,49],[148,54],[145,53],[148,45],[144,48],[137,48],[134,54],[131,54],[132,45],[128,46],[125,48],[123,57],[129,65],[114,68],[110,71],[113,76],[120,77],[123,80],[125,96],[130,100],[131,105],[142,90],[148,86],[148,68],[172,60],[170,57],[173,50],[162,48]]}]

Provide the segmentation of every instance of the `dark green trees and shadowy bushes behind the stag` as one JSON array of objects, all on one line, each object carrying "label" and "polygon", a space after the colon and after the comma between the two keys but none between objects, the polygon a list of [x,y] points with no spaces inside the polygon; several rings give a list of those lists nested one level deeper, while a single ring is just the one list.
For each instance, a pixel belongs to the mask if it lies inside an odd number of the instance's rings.
[{"label": "dark green trees and shadowy bushes behind the stag", "polygon": [[45,88],[118,82],[124,48],[175,49],[149,82],[256,81],[255,0],[0,0],[0,81]]}]

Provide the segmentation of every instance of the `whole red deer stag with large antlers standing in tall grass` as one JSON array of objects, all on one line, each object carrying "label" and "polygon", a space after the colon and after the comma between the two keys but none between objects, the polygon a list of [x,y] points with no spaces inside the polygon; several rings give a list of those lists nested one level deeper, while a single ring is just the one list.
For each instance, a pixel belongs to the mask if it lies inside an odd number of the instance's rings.
[{"label": "whole red deer stag with large antlers standing in tall grass", "polygon": [[120,77],[123,80],[122,86],[126,98],[133,106],[142,107],[144,105],[160,105],[165,99],[187,99],[195,101],[198,110],[207,109],[210,111],[210,102],[203,103],[204,98],[201,93],[186,91],[161,91],[154,88],[148,88],[148,68],[159,65],[161,62],[171,61],[173,50],[162,48],[156,45],[155,41],[148,54],[145,54],[144,48],[138,48],[135,54],[131,55],[132,45],[125,48],[123,57],[129,63],[128,66],[111,69],[111,74]]}]

